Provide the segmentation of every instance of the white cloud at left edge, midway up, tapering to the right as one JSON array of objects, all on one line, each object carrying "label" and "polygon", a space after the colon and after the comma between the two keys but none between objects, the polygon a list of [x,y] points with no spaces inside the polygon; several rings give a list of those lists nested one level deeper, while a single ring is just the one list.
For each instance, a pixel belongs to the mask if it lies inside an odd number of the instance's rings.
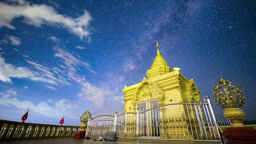
[{"label": "white cloud at left edge, midway up, tapering to the right", "polygon": [[11,77],[28,78],[33,76],[33,72],[26,67],[15,67],[12,64],[5,63],[5,59],[0,54],[0,80],[12,82]]}]

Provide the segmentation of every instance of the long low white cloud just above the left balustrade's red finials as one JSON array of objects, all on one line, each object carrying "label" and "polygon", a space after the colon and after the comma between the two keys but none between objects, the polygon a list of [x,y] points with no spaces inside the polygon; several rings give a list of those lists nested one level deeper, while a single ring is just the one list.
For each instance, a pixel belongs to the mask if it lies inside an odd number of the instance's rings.
[{"label": "long low white cloud just above the left balustrade's red finials", "polygon": [[34,111],[49,117],[62,117],[65,115],[71,119],[77,119],[80,115],[77,112],[77,103],[67,99],[51,101],[50,103],[41,102],[34,104],[28,100],[20,101],[16,97],[10,98],[10,94],[6,94],[0,97],[0,105],[15,106],[18,109],[29,108],[30,111]]}]

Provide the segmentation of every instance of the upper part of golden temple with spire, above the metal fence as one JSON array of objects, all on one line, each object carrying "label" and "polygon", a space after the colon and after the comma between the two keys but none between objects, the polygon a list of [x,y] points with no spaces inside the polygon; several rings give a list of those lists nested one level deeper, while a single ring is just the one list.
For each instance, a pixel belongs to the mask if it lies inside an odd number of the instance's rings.
[{"label": "upper part of golden temple with spire, above the metal fence", "polygon": [[[194,80],[188,80],[179,68],[171,69],[159,51],[151,68],[140,83],[125,87],[125,112],[136,112],[136,104],[157,100],[158,105],[181,102],[201,103],[200,91]],[[149,107],[148,107],[149,108]]]}]

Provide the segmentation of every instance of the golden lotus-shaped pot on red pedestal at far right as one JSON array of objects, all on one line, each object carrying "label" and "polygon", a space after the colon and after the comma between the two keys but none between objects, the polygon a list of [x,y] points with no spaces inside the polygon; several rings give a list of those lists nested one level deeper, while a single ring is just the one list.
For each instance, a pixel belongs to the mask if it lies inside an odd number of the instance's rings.
[{"label": "golden lotus-shaped pot on red pedestal at far right", "polygon": [[223,115],[232,121],[231,127],[245,127],[241,122],[245,118],[245,113],[240,108],[227,108],[223,111]]}]

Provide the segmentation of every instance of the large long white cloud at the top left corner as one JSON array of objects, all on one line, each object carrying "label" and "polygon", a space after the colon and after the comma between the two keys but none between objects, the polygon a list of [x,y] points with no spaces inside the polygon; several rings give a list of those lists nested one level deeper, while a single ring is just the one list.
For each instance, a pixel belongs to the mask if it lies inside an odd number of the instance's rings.
[{"label": "large long white cloud at the top left corner", "polygon": [[19,4],[7,5],[0,3],[0,27],[4,26],[9,29],[15,29],[12,25],[13,19],[24,17],[23,22],[29,25],[40,27],[42,24],[58,25],[68,29],[80,37],[80,39],[89,36],[87,26],[91,21],[91,16],[88,11],[84,10],[84,14],[76,19],[58,14],[56,10],[45,4],[32,4],[25,1]]}]

